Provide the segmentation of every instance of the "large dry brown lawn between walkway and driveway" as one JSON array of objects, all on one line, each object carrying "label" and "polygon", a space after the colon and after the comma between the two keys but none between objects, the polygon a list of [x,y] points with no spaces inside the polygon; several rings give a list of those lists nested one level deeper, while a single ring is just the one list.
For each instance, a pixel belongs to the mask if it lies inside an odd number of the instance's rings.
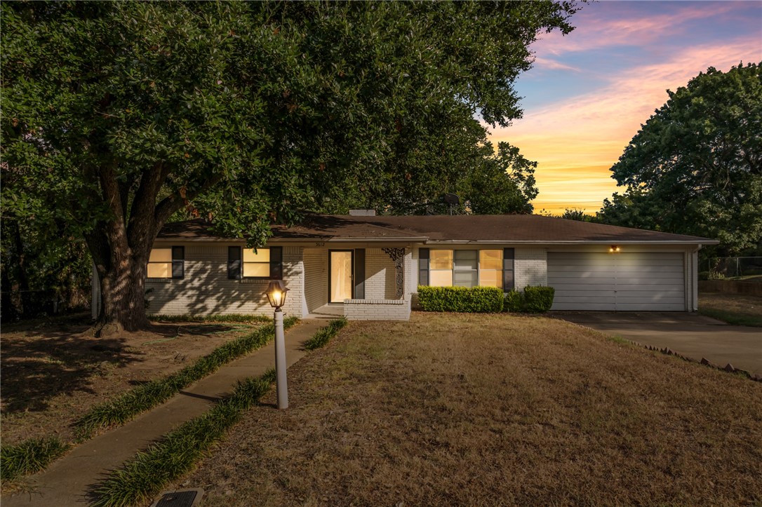
[{"label": "large dry brown lawn between walkway and driveway", "polygon": [[562,320],[351,323],[176,486],[203,505],[759,505],[762,384]]}]

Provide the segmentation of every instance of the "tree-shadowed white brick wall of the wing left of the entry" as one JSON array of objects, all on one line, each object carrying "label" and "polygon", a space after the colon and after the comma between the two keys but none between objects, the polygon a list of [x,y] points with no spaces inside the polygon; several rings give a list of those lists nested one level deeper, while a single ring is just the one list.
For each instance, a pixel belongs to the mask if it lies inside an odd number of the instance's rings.
[{"label": "tree-shadowed white brick wall of the wing left of the entry", "polygon": [[[171,245],[185,247],[185,277],[146,280],[146,290],[153,289],[146,296],[148,314],[272,314],[264,295],[269,280],[228,279],[228,245]],[[296,317],[302,316],[302,251],[283,247],[283,282],[289,289],[283,312]]]}]

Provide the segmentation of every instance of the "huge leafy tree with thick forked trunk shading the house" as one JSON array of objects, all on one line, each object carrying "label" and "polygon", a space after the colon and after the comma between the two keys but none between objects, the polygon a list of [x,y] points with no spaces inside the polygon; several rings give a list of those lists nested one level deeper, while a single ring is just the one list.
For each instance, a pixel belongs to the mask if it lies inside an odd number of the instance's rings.
[{"label": "huge leafy tree with thick forked trunk shading the house", "polygon": [[[156,234],[183,209],[261,245],[271,222],[420,198],[479,110],[571,2],[5,2],[2,156],[34,185],[20,219],[66,215],[103,298],[137,329]],[[446,139],[440,151],[422,139]],[[450,142],[452,141],[452,142]],[[427,165],[421,157],[433,155]],[[467,168],[466,168],[467,169]],[[18,190],[18,189],[17,189]],[[5,189],[4,189],[5,192]],[[22,196],[21,193],[28,193]],[[5,198],[5,196],[4,196]]]}]

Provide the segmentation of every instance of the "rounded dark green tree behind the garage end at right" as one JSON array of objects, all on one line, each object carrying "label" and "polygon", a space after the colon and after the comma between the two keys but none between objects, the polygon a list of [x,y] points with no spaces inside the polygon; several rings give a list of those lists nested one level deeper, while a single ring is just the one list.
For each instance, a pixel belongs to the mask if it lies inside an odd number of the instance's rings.
[{"label": "rounded dark green tree behind the garage end at right", "polygon": [[762,247],[760,65],[710,67],[668,94],[611,167],[627,190],[598,217],[718,238],[726,255]]}]

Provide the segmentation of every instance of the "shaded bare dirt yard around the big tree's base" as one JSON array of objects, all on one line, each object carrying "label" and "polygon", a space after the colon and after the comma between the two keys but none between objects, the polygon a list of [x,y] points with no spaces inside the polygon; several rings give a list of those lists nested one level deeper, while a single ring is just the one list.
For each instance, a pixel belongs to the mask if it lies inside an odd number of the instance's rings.
[{"label": "shaded bare dirt yard around the big tree's base", "polygon": [[83,334],[88,327],[85,314],[3,326],[3,444],[51,435],[70,442],[72,422],[95,403],[178,371],[255,329],[153,324],[147,331],[94,338]]}]

